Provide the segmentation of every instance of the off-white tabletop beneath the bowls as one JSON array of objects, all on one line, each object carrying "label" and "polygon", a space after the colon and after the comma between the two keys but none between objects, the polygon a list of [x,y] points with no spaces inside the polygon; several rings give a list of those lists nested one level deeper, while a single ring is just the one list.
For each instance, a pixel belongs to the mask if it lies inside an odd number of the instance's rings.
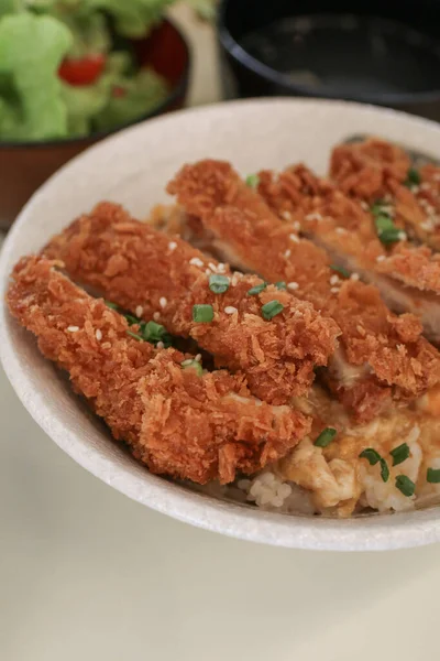
[{"label": "off-white tabletop beneath the bowls", "polygon": [[[209,79],[205,68],[194,102],[213,100]],[[438,546],[337,554],[222,538],[74,464],[2,372],[0,415],[1,661],[437,658]]]}]

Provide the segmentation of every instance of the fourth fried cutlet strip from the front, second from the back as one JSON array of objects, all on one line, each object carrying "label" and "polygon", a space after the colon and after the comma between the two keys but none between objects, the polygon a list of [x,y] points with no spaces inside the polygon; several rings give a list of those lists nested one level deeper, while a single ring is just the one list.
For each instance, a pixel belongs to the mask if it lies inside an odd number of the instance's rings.
[{"label": "fourth fried cutlet strip from the front, second from the back", "polygon": [[417,315],[428,338],[440,343],[440,254],[410,245],[394,226],[389,205],[376,204],[372,212],[304,165],[258,177],[258,193],[280,218],[342,271],[375,284],[394,312]]}]

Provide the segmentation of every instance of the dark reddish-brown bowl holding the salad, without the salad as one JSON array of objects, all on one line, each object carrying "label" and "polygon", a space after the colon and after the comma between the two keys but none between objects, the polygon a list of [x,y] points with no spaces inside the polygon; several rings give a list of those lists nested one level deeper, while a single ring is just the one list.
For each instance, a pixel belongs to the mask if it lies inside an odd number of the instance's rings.
[{"label": "dark reddish-brown bowl holding the salad, without the salad", "polygon": [[[175,25],[164,20],[146,39],[131,42],[140,66],[151,66],[168,83],[164,101],[134,122],[182,108],[189,82],[190,53],[187,42]],[[38,186],[64,165],[98,140],[119,131],[95,132],[84,138],[40,142],[0,141],[0,228],[8,229],[22,206]]]}]

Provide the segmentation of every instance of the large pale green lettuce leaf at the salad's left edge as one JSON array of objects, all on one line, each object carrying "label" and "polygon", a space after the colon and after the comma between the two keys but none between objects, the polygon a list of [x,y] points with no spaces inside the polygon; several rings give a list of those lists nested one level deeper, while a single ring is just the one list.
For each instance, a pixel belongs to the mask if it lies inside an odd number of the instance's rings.
[{"label": "large pale green lettuce leaf at the salad's left edge", "polygon": [[43,140],[67,134],[57,76],[72,45],[69,30],[51,17],[22,12],[0,20],[0,134]]}]

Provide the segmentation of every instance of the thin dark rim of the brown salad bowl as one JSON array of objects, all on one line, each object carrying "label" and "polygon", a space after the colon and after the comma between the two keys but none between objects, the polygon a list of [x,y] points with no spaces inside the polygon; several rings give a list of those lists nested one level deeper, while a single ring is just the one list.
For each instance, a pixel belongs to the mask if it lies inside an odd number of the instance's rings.
[{"label": "thin dark rim of the brown salad bowl", "polygon": [[129,121],[129,122],[125,122],[122,124],[118,124],[118,127],[114,129],[110,129],[108,131],[94,131],[92,133],[89,133],[88,136],[79,136],[76,138],[75,137],[62,138],[62,139],[51,138],[50,140],[23,140],[23,141],[1,140],[0,139],[0,150],[12,149],[12,150],[20,151],[20,150],[30,150],[30,149],[31,150],[45,149],[45,148],[50,149],[50,148],[54,148],[54,147],[70,147],[70,145],[76,145],[76,144],[87,145],[89,143],[94,143],[94,142],[100,141],[105,138],[108,138],[110,136],[113,136],[114,133],[118,133],[119,131],[128,129],[136,123],[145,121],[147,119],[152,119],[154,117],[157,117],[158,115],[163,115],[164,112],[167,112],[168,109],[172,110],[173,105],[177,101],[177,99],[179,99],[185,94],[185,90],[188,88],[190,71],[193,67],[193,52],[191,52],[191,47],[190,47],[188,40],[184,35],[183,31],[176,25],[175,21],[173,21],[168,17],[163,17],[161,24],[163,24],[163,23],[170,25],[173,28],[173,30],[176,32],[176,34],[179,36],[182,44],[185,48],[185,53],[186,53],[186,65],[185,65],[184,72],[182,73],[182,76],[179,77],[177,84],[174,85],[173,89],[169,91],[169,94],[166,96],[166,98],[158,106],[153,108],[153,110],[150,110],[150,112],[142,115],[139,119],[135,119],[133,121]]}]

